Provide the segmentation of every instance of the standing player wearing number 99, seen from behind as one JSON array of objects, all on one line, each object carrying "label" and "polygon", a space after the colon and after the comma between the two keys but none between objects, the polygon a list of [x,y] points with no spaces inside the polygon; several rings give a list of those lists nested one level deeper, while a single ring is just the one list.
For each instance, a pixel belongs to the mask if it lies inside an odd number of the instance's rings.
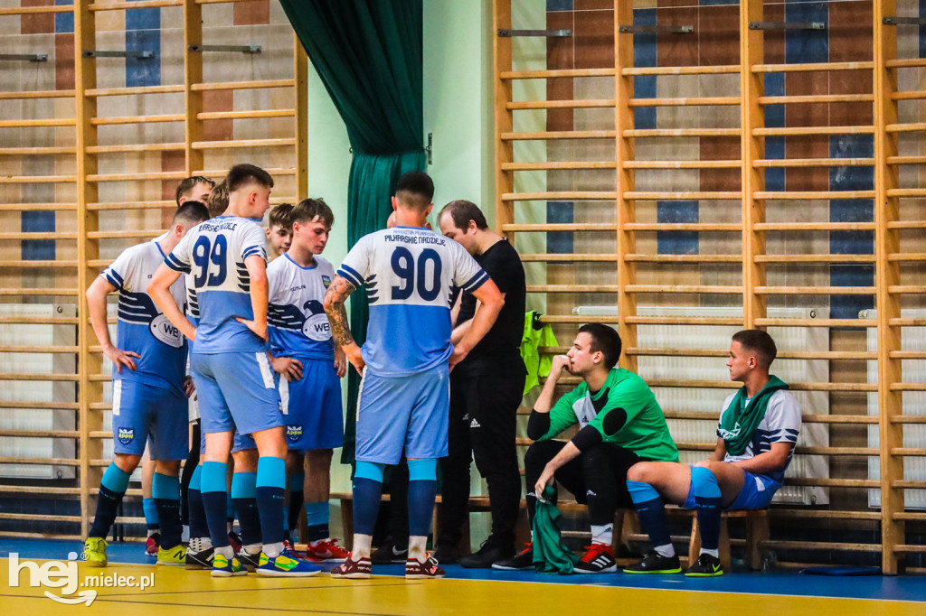
[{"label": "standing player wearing number 99, seen from behind", "polygon": [[[212,575],[247,573],[234,558],[225,524],[225,475],[236,429],[254,437],[259,455],[254,492],[263,549],[257,573],[311,575],[318,568],[281,554],[286,442],[266,351],[267,262],[257,222],[269,206],[273,179],[260,167],[236,165],[225,181],[225,215],[199,225],[165,257],[149,293],[171,323],[194,340],[191,368],[206,434],[200,492],[214,549]],[[187,273],[193,275],[199,302],[196,328],[169,302],[170,285]]]}]

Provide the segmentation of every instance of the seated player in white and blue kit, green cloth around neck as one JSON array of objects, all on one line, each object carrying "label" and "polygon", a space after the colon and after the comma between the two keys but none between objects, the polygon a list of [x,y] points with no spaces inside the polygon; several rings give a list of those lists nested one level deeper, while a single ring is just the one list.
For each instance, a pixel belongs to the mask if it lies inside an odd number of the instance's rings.
[{"label": "seated player in white and blue kit, green cloth around neck", "polygon": [[[801,430],[801,410],[788,386],[769,374],[778,353],[775,341],[759,329],[744,329],[730,344],[730,380],[743,387],[723,402],[717,448],[693,466],[668,462],[636,464],[627,488],[655,551],[624,573],[680,573],[669,541],[665,503],[697,511],[701,553],[685,575],[721,575],[718,545],[720,513],[766,509],[782,487]],[[694,554],[689,556],[694,559]],[[691,561],[690,561],[691,562]]]}]

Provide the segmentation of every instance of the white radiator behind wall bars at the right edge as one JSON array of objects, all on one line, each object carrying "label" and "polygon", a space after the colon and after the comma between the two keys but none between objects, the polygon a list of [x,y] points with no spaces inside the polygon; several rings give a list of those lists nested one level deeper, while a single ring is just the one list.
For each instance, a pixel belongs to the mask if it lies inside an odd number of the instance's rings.
[{"label": "white radiator behind wall bars at the right edge", "polygon": [[[901,316],[904,318],[921,319],[926,317],[926,310],[902,310]],[[877,317],[878,311],[875,309],[863,310],[858,314],[858,318],[861,319],[874,319]],[[868,350],[878,351],[877,327],[869,327]],[[926,327],[904,327],[903,339],[901,339],[901,350],[926,351]],[[926,382],[926,361],[901,360],[900,366],[905,383]],[[878,382],[877,361],[870,360],[868,362],[868,382]],[[903,392],[903,397],[905,415],[926,414],[926,391],[905,391]],[[868,413],[874,416],[878,415],[878,392],[869,392]],[[869,447],[878,448],[879,443],[880,435],[878,433],[878,426],[870,425]],[[926,447],[926,425],[904,425],[904,447]],[[881,460],[877,456],[869,458],[869,478],[881,479]],[[904,479],[913,481],[926,480],[926,458],[905,456]],[[926,509],[926,490],[904,490],[904,502],[907,509]],[[869,490],[869,507],[881,507],[881,489],[875,488]]]}]

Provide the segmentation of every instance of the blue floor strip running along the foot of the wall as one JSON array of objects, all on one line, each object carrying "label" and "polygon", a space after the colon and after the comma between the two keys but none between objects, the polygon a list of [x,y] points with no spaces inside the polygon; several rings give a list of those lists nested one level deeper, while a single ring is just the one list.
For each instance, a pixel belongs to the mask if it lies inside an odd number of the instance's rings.
[{"label": "blue floor strip running along the foot of the wall", "polygon": [[[18,552],[20,559],[64,561],[69,552],[81,552],[77,541],[47,539],[18,539],[0,537],[0,558]],[[106,555],[111,563],[150,564],[154,560],[145,556],[143,543],[110,543]],[[869,598],[926,603],[926,576],[828,577],[804,575],[791,571],[734,572],[715,578],[687,578],[683,575],[629,575],[625,573],[599,573],[595,575],[555,575],[533,572],[495,571],[492,569],[464,569],[459,565],[446,565],[448,578],[521,582],[532,584],[585,584],[623,588],[650,588],[660,590],[693,590],[756,595],[783,595],[792,597]],[[405,575],[404,565],[376,565],[375,575]]]}]

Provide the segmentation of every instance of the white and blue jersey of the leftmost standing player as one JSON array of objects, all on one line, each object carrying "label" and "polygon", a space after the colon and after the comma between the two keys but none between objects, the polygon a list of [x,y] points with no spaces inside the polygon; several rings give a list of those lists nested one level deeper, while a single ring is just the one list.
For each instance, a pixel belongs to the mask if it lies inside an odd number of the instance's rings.
[{"label": "white and blue jersey of the leftmost standing player", "polygon": [[[182,391],[186,375],[186,339],[164,314],[157,310],[147,293],[148,283],[164,260],[156,241],[132,246],[100,275],[119,291],[116,346],[135,351],[135,370],[113,369],[114,380],[131,380],[159,388]],[[183,282],[171,285],[170,294],[183,307]]]}]

